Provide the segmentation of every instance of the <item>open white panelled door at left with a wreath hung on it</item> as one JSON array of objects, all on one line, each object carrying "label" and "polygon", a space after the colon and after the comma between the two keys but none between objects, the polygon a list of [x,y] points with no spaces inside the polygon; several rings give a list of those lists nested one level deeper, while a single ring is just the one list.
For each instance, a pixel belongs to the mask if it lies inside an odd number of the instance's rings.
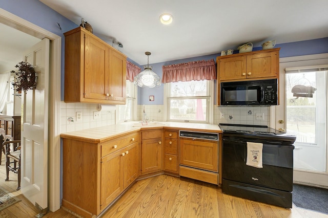
[{"label": "open white panelled door at left with a wreath hung on it", "polygon": [[22,193],[33,205],[48,207],[49,39],[25,52],[37,85],[22,94]]}]

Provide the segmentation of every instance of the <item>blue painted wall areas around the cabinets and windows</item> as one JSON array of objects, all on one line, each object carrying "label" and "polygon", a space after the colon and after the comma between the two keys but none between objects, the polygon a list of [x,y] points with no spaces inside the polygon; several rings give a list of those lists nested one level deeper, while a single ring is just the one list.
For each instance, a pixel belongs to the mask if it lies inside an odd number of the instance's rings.
[{"label": "blue painted wall areas around the cabinets and windows", "polygon": [[[65,60],[64,60],[65,38],[63,33],[76,28],[77,25],[37,0],[20,0],[20,1],[0,0],[0,7],[63,38],[62,46],[61,46],[62,48],[61,99],[63,100],[64,99],[64,64],[65,64]],[[57,23],[60,24],[61,30],[59,29]],[[282,43],[280,45],[276,45],[276,48],[278,47],[281,48],[280,57],[328,53],[328,37],[315,39],[315,40]],[[260,49],[261,48],[254,48],[254,51]],[[217,56],[219,56],[219,54],[181,59],[181,60],[175,60],[169,62],[154,63],[151,65],[153,66],[153,71],[156,72],[161,77],[162,66],[168,64],[196,61],[196,60],[209,60],[209,59],[215,60]],[[128,60],[135,63],[133,60],[130,59]],[[155,101],[150,102],[148,99],[149,95],[154,95]],[[161,85],[159,88],[153,88],[153,89],[138,88],[138,96],[139,96],[138,104],[163,104],[163,85]]]}]

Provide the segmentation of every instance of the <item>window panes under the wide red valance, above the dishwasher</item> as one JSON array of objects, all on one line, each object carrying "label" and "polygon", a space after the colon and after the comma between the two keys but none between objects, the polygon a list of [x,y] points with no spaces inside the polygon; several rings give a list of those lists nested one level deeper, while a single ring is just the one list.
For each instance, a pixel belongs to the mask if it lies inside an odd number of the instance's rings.
[{"label": "window panes under the wide red valance, above the dishwasher", "polygon": [[167,121],[210,123],[214,80],[168,82]]}]

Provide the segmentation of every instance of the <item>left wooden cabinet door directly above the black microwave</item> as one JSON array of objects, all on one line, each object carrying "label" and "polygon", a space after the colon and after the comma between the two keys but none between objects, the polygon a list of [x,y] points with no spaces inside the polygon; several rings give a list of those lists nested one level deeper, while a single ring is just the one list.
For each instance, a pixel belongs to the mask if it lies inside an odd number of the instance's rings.
[{"label": "left wooden cabinet door directly above the black microwave", "polygon": [[219,59],[220,80],[246,78],[246,56]]}]

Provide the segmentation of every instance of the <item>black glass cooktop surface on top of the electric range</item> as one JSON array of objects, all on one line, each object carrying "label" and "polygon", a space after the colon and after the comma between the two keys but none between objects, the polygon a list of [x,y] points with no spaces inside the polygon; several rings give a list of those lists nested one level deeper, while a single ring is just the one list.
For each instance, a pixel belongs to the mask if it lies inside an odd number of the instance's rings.
[{"label": "black glass cooktop surface on top of the electric range", "polygon": [[249,139],[284,141],[293,144],[296,137],[266,125],[247,125],[220,123],[224,137],[242,137]]}]

